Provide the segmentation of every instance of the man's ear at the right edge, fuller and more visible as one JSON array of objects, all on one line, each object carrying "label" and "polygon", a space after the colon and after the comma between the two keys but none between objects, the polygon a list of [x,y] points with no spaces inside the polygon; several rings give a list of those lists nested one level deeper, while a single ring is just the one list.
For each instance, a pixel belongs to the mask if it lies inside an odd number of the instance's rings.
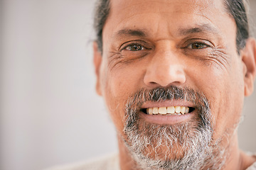
[{"label": "man's ear at the right edge, fuller and more visible", "polygon": [[241,52],[242,62],[244,62],[244,80],[245,96],[250,96],[254,89],[256,76],[256,42],[255,39],[249,38],[245,48]]}]

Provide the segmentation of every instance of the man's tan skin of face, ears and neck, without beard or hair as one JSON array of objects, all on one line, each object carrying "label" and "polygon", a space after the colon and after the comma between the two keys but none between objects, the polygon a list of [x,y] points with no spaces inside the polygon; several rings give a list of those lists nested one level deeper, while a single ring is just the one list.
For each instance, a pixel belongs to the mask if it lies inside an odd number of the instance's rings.
[{"label": "man's tan skin of face, ears and neck, without beard or hair", "polygon": [[[102,54],[94,46],[96,89],[117,129],[122,170],[136,164],[121,140],[127,98],[141,88],[170,85],[206,95],[216,120],[213,141],[233,134],[220,144],[229,148],[224,169],[246,169],[256,161],[238,148],[234,127],[245,96],[253,91],[256,43],[250,38],[238,55],[235,21],[222,0],[112,0],[102,36]],[[167,107],[172,102],[145,105]]]}]

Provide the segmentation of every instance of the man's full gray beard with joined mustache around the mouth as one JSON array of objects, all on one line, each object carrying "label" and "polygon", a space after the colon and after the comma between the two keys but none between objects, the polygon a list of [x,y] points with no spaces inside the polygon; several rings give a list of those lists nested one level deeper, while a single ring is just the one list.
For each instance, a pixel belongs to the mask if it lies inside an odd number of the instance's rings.
[{"label": "man's full gray beard with joined mustache around the mouth", "polygon": [[[176,125],[157,125],[139,119],[146,101],[179,99],[196,107],[196,118]],[[221,169],[225,149],[221,139],[213,142],[213,118],[203,94],[171,86],[168,89],[142,89],[127,101],[124,144],[134,161],[133,169]]]}]

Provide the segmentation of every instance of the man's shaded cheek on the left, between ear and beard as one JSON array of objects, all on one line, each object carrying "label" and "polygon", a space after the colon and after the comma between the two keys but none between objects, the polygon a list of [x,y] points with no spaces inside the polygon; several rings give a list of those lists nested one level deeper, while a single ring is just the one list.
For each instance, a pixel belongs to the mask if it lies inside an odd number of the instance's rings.
[{"label": "man's shaded cheek on the left, between ear and beard", "polygon": [[107,109],[119,132],[124,128],[124,112],[128,98],[139,90],[141,71],[132,66],[102,69],[101,86]]}]

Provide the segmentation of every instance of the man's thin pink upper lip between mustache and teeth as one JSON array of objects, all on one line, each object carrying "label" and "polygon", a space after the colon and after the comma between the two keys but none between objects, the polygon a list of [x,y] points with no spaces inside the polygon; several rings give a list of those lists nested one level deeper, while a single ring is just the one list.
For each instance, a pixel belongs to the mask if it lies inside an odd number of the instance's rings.
[{"label": "man's thin pink upper lip between mustache and teeth", "polygon": [[188,101],[181,100],[169,100],[169,101],[147,101],[142,104],[142,108],[160,108],[160,107],[169,107],[169,106],[185,106],[194,108],[193,103]]}]

